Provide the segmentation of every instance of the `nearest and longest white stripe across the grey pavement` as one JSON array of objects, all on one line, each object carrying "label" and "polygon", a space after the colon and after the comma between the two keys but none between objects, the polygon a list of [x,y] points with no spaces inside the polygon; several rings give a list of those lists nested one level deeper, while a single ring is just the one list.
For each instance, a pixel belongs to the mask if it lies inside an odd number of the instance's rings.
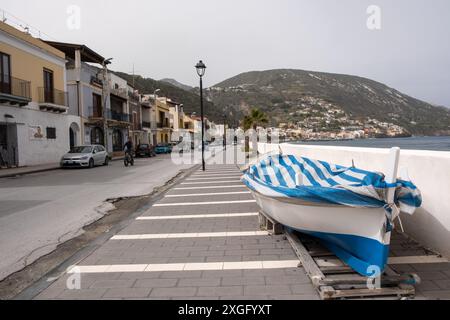
[{"label": "nearest and longest white stripe across the grey pavement", "polygon": [[224,270],[264,270],[297,268],[298,260],[282,261],[240,261],[207,263],[165,263],[165,264],[130,264],[75,266],[67,273],[127,273],[127,272],[161,272],[161,271],[224,271]]}]

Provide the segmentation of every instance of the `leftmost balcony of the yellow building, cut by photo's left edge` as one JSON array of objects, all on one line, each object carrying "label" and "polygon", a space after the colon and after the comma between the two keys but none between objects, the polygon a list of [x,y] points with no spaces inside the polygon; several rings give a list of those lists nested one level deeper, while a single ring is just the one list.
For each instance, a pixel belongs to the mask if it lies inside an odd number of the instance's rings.
[{"label": "leftmost balcony of the yellow building, cut by photo's left edge", "polygon": [[31,82],[0,74],[0,103],[26,106],[31,101]]}]

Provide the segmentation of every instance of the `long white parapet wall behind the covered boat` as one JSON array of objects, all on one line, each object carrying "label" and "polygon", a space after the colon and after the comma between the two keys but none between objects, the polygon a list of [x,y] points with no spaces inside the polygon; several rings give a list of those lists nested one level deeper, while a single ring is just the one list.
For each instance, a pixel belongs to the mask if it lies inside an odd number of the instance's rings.
[{"label": "long white parapet wall behind the covered boat", "polygon": [[[386,172],[389,149],[258,144],[261,154],[293,154],[343,166]],[[400,169],[407,168],[411,181],[422,192],[423,205],[413,216],[402,214],[405,232],[424,246],[450,257],[450,152],[402,150]]]}]

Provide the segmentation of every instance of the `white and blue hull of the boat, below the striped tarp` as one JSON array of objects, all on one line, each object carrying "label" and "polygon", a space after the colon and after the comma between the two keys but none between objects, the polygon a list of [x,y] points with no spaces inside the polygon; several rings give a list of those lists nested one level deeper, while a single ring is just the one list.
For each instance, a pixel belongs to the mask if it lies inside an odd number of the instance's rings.
[{"label": "white and blue hull of the boat, below the striped tarp", "polygon": [[[301,203],[290,198],[252,194],[264,214],[291,229],[316,236],[363,275],[384,270],[391,232],[383,208],[353,208]],[[375,267],[375,269],[374,269]]]}]

